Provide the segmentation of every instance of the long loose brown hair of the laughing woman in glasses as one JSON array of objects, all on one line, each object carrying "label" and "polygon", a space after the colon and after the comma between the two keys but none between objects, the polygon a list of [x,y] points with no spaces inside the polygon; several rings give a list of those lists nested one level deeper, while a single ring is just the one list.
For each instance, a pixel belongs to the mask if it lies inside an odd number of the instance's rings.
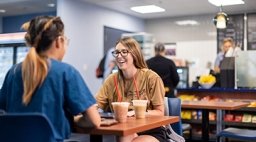
[{"label": "long loose brown hair of the laughing woman in glasses", "polygon": [[141,52],[139,43],[132,37],[124,37],[117,41],[117,44],[121,43],[123,46],[127,47],[129,52],[133,57],[133,64],[136,68],[148,68]]}]

